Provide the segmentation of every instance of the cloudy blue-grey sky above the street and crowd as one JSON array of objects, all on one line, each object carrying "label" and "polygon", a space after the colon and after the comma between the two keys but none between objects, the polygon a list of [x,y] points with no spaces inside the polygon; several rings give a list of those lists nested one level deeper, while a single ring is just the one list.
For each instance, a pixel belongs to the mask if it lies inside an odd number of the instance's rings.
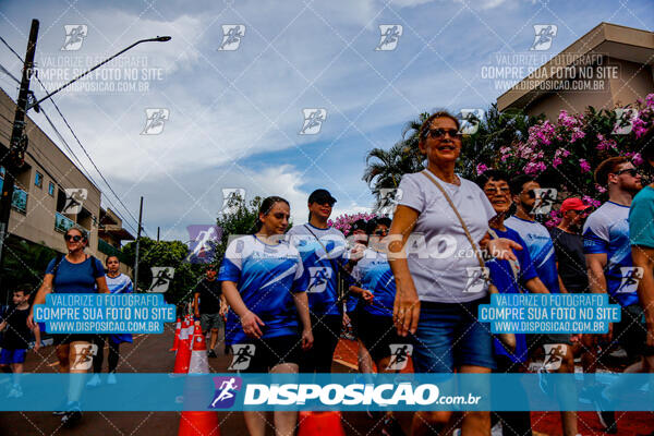
[{"label": "cloudy blue-grey sky above the street and crowd", "polygon": [[[172,36],[140,45],[55,99],[132,215],[145,197],[147,233],[160,226],[164,239],[184,241],[186,226],[215,222],[223,189],[281,195],[295,222],[316,187],[338,198],[335,216],[370,210],[366,153],[390,147],[422,111],[488,108],[504,92],[484,70],[498,65],[497,53],[541,60],[603,21],[649,31],[654,23],[651,1],[3,0],[0,35],[21,56],[32,19],[40,21],[36,60],[50,90],[137,39]],[[530,51],[538,24],[556,35]],[[71,34],[77,25],[82,38]],[[396,43],[380,44],[380,25],[399,25]],[[244,35],[220,50],[223,26]],[[0,63],[20,76],[4,46]],[[0,86],[17,97],[1,71]],[[32,89],[45,95],[34,81]],[[98,181],[104,206],[118,204],[52,105],[44,108]],[[162,129],[146,125],[146,109],[165,109]],[[303,109],[326,110],[318,133],[299,134]],[[63,148],[43,116],[31,117]]]}]

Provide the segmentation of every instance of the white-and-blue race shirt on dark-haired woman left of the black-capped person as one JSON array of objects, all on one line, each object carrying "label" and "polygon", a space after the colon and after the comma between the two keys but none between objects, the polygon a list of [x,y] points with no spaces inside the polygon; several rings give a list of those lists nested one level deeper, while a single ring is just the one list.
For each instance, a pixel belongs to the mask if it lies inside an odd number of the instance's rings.
[{"label": "white-and-blue race shirt on dark-haired woman left of the black-capped person", "polygon": [[[269,245],[255,235],[232,241],[220,265],[218,280],[237,283],[243,303],[266,324],[259,326],[262,339],[298,335],[299,316],[292,294],[306,291],[308,277],[298,250],[287,241]],[[231,310],[225,336],[228,344],[249,339]]]}]

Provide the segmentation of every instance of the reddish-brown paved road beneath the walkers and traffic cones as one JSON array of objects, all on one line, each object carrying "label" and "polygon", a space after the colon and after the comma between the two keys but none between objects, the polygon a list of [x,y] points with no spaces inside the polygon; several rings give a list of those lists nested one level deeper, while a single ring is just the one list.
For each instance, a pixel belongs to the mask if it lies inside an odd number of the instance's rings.
[{"label": "reddish-brown paved road beneath the walkers and traffic cones", "polygon": [[[169,352],[172,344],[173,325],[167,325],[162,335],[140,335],[134,338],[133,344],[121,347],[119,373],[168,373],[174,366],[174,353]],[[216,359],[209,359],[213,372],[225,373],[230,364],[230,356],[221,350]],[[55,373],[57,359],[55,349],[47,347],[40,355],[28,353],[26,372]],[[334,372],[351,372],[356,362],[355,346],[351,341],[341,340],[335,355]],[[106,362],[105,362],[106,365]],[[410,368],[409,368],[410,370]],[[106,371],[106,366],[105,366]],[[120,377],[120,374],[119,374]],[[47,389],[45,386],[44,389]],[[101,389],[99,387],[98,389]],[[147,395],[147,393],[144,393]],[[0,386],[0,401],[5,400],[5,387]],[[119,398],[116,401],[120,401]],[[217,412],[220,423],[220,435],[240,436],[247,435],[242,413]],[[267,413],[272,422],[272,414]],[[404,431],[409,431],[411,415],[399,413],[399,421]],[[580,413],[579,431],[583,435],[602,435],[600,423],[592,412]],[[619,414],[619,435],[647,434],[654,429],[654,413],[627,413]],[[177,436],[180,422],[178,412],[86,412],[83,420],[74,428],[60,425],[58,416],[50,412],[0,413],[0,436]],[[556,412],[532,412],[534,429],[550,435],[560,435],[560,420]],[[376,421],[367,417],[365,413],[344,413],[343,427],[346,434],[354,436],[379,435],[380,428]],[[271,426],[268,435],[272,435]],[[215,434],[213,436],[218,436]],[[325,435],[327,436],[327,435]]]}]

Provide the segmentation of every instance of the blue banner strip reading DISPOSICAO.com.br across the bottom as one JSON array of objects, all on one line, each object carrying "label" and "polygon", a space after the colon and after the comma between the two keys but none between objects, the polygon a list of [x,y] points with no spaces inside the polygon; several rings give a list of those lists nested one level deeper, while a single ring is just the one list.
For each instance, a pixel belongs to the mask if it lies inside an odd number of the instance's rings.
[{"label": "blue banner strip reading DISPOSICAO.com.br across the bottom", "polygon": [[[24,374],[23,397],[2,411],[62,410],[70,384],[87,374]],[[493,410],[652,411],[653,374],[117,374],[118,384],[85,388],[85,411],[184,410]],[[0,375],[9,387],[12,376]],[[618,392],[617,395],[615,392]]]}]

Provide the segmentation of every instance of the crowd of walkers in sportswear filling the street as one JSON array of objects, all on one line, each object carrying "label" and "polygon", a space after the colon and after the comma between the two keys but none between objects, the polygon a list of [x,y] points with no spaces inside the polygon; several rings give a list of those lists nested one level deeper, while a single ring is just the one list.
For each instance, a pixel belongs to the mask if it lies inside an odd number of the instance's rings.
[{"label": "crowd of walkers in sportswear filling the street", "polygon": [[[403,175],[392,217],[359,220],[348,238],[328,225],[336,198],[325,189],[310,195],[308,221],[290,230],[289,202],[263,201],[252,234],[232,238],[219,268],[208,267],[195,290],[193,313],[210,334],[209,356],[222,342],[223,326],[225,344],[240,363],[246,361],[232,366],[246,373],[329,373],[344,330],[359,343],[362,373],[399,372],[409,350],[419,373],[519,373],[541,361],[541,372],[574,373],[574,359],[581,359],[584,390],[596,400],[605,431],[616,433],[610,403],[619,386],[603,389],[596,383],[602,358],[617,342],[629,361],[625,372],[654,367],[654,184],[643,187],[641,175],[654,167],[652,132],[643,138],[644,168],[625,157],[606,159],[594,175],[608,199],[593,210],[574,195],[559,198],[562,219],[552,229],[536,220],[538,180],[491,169],[471,181],[455,172],[462,146],[457,118],[434,113],[419,141],[426,169]],[[419,249],[410,247],[415,235],[425,241]],[[117,275],[118,259],[108,263],[105,276],[84,254],[86,238],[80,229],[66,232],[69,254],[52,259],[34,303],[44,303],[48,292],[132,291],[129,278]],[[471,270],[488,275],[471,280]],[[493,292],[606,293],[620,305],[621,320],[603,335],[494,337],[477,319],[479,305]],[[0,324],[8,329],[0,366],[16,373],[27,348],[20,338],[29,335],[27,328],[38,330],[24,300],[17,291]],[[118,344],[131,338],[109,339],[113,372]],[[101,348],[105,338],[58,338],[61,370],[87,371],[72,363],[94,342]],[[100,366],[101,361],[96,373]],[[80,389],[71,387],[64,421],[78,417],[71,411],[78,412]],[[569,389],[553,386],[548,393],[565,401]],[[560,413],[562,433],[577,435],[577,413]],[[371,415],[383,421],[384,434],[403,434],[391,411]],[[262,413],[244,417],[251,435],[265,434]],[[293,434],[296,420],[296,412],[275,412],[277,434]],[[497,422],[504,435],[532,434],[529,412],[483,411],[467,412],[460,422],[452,412],[416,412],[411,434],[450,426],[460,426],[463,435],[491,434]]]}]

